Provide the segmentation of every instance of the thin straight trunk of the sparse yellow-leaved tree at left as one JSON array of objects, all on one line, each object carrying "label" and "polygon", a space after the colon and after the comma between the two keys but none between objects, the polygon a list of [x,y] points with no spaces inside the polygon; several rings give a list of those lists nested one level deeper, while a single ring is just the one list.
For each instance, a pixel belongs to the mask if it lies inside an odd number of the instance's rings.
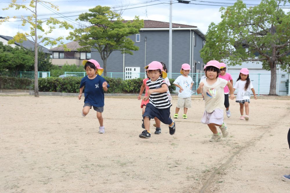
[{"label": "thin straight trunk of the sparse yellow-leaved tree at left", "polygon": [[37,49],[37,1],[35,1],[35,42],[34,42],[34,96],[39,97],[38,93],[38,49]]}]

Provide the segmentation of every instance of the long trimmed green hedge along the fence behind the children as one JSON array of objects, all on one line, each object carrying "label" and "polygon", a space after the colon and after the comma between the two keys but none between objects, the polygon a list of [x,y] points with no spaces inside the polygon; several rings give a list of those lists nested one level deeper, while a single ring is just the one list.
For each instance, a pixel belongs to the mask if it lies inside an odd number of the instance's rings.
[{"label": "long trimmed green hedge along the fence behind the children", "polygon": [[[43,92],[63,92],[78,93],[82,77],[65,78],[39,78],[38,89]],[[139,93],[142,85],[142,78],[122,80],[120,78],[104,77],[110,87],[106,93]],[[169,79],[171,86],[169,91],[173,93],[176,87],[173,85],[174,79]],[[34,80],[28,78],[0,77],[1,89],[32,89]]]}]

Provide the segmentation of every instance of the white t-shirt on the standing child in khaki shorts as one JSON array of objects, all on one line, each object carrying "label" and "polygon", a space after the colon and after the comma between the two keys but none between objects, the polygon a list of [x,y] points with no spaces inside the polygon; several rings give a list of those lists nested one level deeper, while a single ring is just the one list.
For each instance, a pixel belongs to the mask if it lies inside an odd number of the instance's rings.
[{"label": "white t-shirt on the standing child in khaki shorts", "polygon": [[191,83],[194,83],[192,78],[190,76],[178,76],[173,84],[178,84],[182,87],[183,91],[180,93],[178,92],[178,97],[180,98],[189,98],[191,97],[191,89],[190,89],[190,85]]}]

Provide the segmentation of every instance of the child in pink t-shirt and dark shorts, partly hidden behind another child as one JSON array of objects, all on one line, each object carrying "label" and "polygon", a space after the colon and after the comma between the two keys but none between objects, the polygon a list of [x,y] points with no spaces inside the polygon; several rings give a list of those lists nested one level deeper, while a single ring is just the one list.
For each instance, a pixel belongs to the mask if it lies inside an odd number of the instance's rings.
[{"label": "child in pink t-shirt and dark shorts, partly hidden behind another child", "polygon": [[[233,86],[233,78],[231,74],[226,73],[226,64],[223,62],[220,63],[220,75],[218,77],[224,80],[230,81]],[[229,103],[229,87],[228,86],[224,87],[224,107],[226,107],[226,116],[230,117],[231,111],[230,111],[230,103]]]}]

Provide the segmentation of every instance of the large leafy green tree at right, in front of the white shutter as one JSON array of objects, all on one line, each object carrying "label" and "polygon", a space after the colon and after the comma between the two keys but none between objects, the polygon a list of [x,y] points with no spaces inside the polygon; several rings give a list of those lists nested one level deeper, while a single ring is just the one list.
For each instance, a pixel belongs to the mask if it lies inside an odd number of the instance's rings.
[{"label": "large leafy green tree at right, in front of the white shutter", "polygon": [[211,23],[206,33],[203,60],[227,60],[229,65],[260,61],[271,71],[269,95],[276,95],[276,69],[289,69],[290,62],[290,14],[279,6],[275,0],[262,0],[247,8],[238,0],[221,8],[222,21]]}]

